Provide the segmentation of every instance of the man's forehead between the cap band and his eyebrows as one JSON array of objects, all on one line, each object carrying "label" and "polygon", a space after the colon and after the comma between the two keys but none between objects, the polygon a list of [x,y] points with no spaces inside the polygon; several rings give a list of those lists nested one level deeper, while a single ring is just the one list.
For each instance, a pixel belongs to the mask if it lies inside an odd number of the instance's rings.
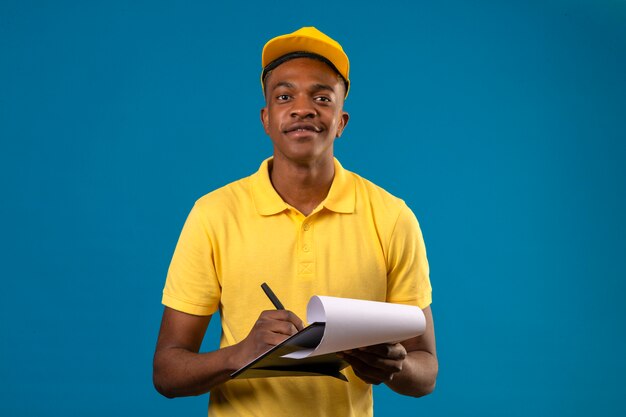
[{"label": "man's forehead between the cap band and his eyebrows", "polygon": [[312,58],[294,58],[274,68],[267,76],[268,89],[278,84],[326,84],[338,91],[339,75],[325,63]]}]

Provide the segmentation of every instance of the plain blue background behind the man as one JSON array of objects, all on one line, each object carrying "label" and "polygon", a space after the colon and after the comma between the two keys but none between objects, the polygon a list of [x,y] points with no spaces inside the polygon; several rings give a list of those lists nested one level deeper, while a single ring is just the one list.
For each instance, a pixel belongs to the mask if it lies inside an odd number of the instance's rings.
[{"label": "plain blue background behind the man", "polygon": [[[260,53],[352,64],[336,154],[420,219],[440,375],[378,416],[621,415],[626,3],[0,3],[0,414],[195,415],[152,387],[193,202],[271,153]],[[204,349],[217,344],[211,325]]]}]

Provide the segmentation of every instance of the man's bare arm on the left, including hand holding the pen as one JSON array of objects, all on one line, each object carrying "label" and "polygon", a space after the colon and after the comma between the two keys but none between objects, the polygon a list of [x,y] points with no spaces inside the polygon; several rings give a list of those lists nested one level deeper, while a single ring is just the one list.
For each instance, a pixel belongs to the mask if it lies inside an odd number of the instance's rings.
[{"label": "man's bare arm on the left, including hand holding the pen", "polygon": [[154,386],[162,395],[200,395],[230,379],[230,374],[302,329],[287,310],[261,313],[248,336],[233,346],[198,353],[211,316],[194,316],[165,307],[153,362]]}]

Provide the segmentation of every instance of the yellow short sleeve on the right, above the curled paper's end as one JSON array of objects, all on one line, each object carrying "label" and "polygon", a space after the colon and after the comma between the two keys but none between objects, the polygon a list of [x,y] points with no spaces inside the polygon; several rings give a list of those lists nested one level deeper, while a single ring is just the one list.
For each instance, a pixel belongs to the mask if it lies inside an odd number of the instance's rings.
[{"label": "yellow short sleeve on the right, above the curled paper's end", "polygon": [[391,234],[387,258],[387,301],[416,305],[432,302],[426,247],[415,215],[403,205]]}]

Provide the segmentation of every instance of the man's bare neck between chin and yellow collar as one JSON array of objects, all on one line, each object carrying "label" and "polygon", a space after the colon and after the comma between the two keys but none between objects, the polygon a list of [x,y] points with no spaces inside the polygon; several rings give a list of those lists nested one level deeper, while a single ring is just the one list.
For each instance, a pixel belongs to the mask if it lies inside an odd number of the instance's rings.
[{"label": "man's bare neck between chin and yellow collar", "polygon": [[314,164],[296,164],[275,155],[270,165],[270,178],[278,195],[305,216],[324,201],[334,176],[332,158]]}]

